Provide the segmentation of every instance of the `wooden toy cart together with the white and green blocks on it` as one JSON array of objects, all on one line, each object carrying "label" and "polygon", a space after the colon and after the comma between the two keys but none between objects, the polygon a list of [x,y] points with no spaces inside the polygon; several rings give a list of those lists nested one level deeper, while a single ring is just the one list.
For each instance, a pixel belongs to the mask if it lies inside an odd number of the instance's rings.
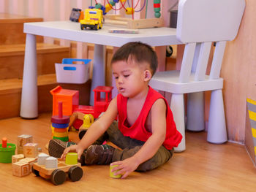
[{"label": "wooden toy cart together with the white and green blocks on it", "polygon": [[[71,158],[68,159],[67,158]],[[45,161],[40,161],[42,164],[34,163],[32,167],[32,172],[38,177],[41,176],[46,180],[50,180],[54,185],[61,185],[66,180],[66,173],[69,175],[69,179],[72,182],[80,180],[83,177],[83,169],[81,164],[74,161],[74,158],[78,158],[78,155],[67,155],[67,164],[64,161],[57,160],[53,157],[48,157]],[[75,164],[77,163],[77,164]]]}]

